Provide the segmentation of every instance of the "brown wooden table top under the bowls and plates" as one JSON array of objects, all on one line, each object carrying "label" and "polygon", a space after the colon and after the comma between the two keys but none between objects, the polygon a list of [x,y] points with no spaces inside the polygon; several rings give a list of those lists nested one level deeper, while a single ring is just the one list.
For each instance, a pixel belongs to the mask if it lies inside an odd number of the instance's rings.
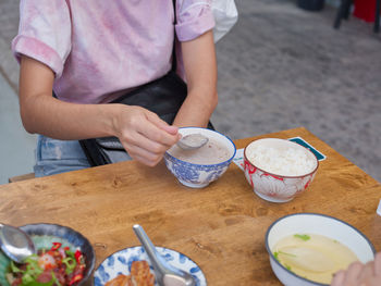
[{"label": "brown wooden table top under the bowls and plates", "polygon": [[139,245],[132,226],[140,224],[155,245],[194,260],[208,285],[281,285],[271,271],[265,234],[276,219],[316,212],[344,220],[381,250],[381,185],[307,129],[299,127],[235,140],[299,136],[327,159],[309,188],[287,203],[257,197],[232,163],[204,189],[176,182],[163,163],[137,162],[91,167],[0,186],[0,222],[15,226],[56,223],[85,235],[97,265],[111,253]]}]

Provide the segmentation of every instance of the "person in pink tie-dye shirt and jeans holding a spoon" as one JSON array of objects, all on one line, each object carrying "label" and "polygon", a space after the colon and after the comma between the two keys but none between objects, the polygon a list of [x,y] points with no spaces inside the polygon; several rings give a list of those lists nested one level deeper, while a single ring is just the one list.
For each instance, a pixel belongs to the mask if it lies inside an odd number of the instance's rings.
[{"label": "person in pink tie-dye shirt and jeans holding a spoon", "polygon": [[[40,135],[37,177],[90,166],[78,139],[115,136],[153,166],[180,139],[177,126],[207,126],[218,102],[211,0],[175,2],[174,26],[172,0],[21,1],[12,50],[22,122]],[[174,28],[188,92],[173,125],[140,107],[106,104],[171,70]]]}]

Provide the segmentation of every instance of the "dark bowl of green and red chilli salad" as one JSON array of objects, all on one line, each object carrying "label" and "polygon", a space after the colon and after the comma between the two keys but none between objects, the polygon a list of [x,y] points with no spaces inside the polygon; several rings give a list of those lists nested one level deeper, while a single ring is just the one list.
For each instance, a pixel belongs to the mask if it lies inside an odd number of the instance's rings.
[{"label": "dark bowl of green and red chilli salad", "polygon": [[2,286],[79,286],[91,276],[95,252],[78,232],[57,224],[27,224],[20,227],[35,244],[37,254],[15,263],[0,251]]}]

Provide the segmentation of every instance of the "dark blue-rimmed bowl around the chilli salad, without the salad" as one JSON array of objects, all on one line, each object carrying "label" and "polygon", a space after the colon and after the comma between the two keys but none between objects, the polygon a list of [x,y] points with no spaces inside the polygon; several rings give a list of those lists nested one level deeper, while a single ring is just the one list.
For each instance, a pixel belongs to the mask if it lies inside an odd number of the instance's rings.
[{"label": "dark blue-rimmed bowl around the chilli salad, without the salad", "polygon": [[[20,226],[20,228],[32,237],[36,249],[50,249],[52,243],[61,243],[62,247],[67,246],[72,250],[79,249],[84,253],[86,269],[84,278],[77,286],[84,285],[93,274],[96,261],[95,252],[87,238],[78,232],[67,226],[48,223],[27,224]],[[5,278],[11,260],[0,250],[0,285],[2,286],[10,286]]]}]

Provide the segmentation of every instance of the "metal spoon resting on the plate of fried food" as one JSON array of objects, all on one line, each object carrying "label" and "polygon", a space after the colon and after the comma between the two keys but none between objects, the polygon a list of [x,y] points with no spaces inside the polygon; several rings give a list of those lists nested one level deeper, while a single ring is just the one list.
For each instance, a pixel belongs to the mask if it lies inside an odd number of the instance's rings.
[{"label": "metal spoon resting on the plate of fried food", "polygon": [[160,286],[196,285],[194,277],[189,273],[175,269],[167,263],[167,261],[157,252],[155,246],[140,225],[135,224],[133,229],[152,263],[156,281]]}]

